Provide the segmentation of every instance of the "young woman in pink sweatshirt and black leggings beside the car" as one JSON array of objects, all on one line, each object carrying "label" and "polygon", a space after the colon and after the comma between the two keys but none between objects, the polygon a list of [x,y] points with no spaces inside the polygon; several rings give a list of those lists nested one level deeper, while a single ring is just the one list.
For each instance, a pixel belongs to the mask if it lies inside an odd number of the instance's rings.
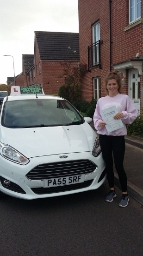
[{"label": "young woman in pink sweatshirt and black leggings beside the car", "polygon": [[[131,124],[137,118],[137,111],[129,96],[121,94],[121,78],[117,72],[111,72],[107,75],[105,89],[108,95],[98,100],[93,121],[99,134],[100,147],[106,163],[106,174],[110,187],[110,192],[106,196],[106,202],[112,202],[113,198],[117,196],[114,189],[114,158],[115,168],[122,188],[119,206],[125,207],[128,205],[129,196],[127,193],[127,176],[123,166],[125,151],[124,135],[127,134],[126,124]],[[118,113],[114,115],[114,119],[121,119],[124,126],[108,133],[106,122],[102,120],[100,111],[112,106],[116,106],[118,110]]]}]

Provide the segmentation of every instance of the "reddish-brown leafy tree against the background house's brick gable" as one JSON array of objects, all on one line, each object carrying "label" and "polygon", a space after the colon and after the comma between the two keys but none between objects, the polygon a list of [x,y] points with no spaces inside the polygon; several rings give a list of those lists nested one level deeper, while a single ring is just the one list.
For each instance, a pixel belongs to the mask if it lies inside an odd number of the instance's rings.
[{"label": "reddish-brown leafy tree against the background house's brick gable", "polygon": [[74,102],[81,99],[81,78],[87,72],[86,64],[79,64],[75,67],[73,61],[64,61],[60,65],[63,67],[64,85],[59,88],[58,95],[67,99],[70,102]]}]

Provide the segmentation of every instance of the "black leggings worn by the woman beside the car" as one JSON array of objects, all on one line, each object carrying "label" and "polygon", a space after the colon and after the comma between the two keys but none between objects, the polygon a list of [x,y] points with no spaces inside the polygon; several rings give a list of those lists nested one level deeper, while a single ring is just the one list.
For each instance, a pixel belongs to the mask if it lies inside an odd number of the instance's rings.
[{"label": "black leggings worn by the woman beside the car", "polygon": [[118,173],[118,178],[123,192],[127,191],[127,176],[124,171],[124,151],[125,141],[124,136],[110,136],[99,135],[99,142],[103,158],[106,163],[106,174],[110,188],[114,188],[114,172],[113,172],[113,158],[115,168]]}]

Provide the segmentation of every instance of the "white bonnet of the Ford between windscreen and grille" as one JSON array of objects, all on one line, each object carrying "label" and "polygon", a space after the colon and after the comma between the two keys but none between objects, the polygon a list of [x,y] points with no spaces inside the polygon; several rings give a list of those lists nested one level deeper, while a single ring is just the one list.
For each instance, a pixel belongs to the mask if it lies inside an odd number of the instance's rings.
[{"label": "white bonnet of the Ford between windscreen and grille", "polygon": [[27,158],[92,152],[97,136],[87,122],[58,127],[0,128],[0,141],[12,146]]}]

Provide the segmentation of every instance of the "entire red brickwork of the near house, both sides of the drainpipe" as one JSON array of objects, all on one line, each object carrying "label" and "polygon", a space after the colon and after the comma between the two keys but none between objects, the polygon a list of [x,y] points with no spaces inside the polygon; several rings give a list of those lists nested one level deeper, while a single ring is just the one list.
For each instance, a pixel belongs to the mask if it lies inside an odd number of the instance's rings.
[{"label": "entire red brickwork of the near house, both sides of the drainpipe", "polygon": [[[109,45],[109,1],[78,0],[79,5],[79,35],[80,62],[88,63],[87,47],[92,42],[92,25],[100,22],[101,64],[91,69],[82,79],[82,97],[88,101],[93,97],[93,77],[101,77],[101,96],[105,95],[103,81],[110,72]],[[143,23],[124,31],[129,25],[129,1],[112,0],[112,64],[135,58],[137,53],[143,56]],[[143,17],[143,1],[141,1],[141,18]],[[123,93],[128,94],[128,70]],[[143,76],[141,76],[141,102],[143,104]]]}]

